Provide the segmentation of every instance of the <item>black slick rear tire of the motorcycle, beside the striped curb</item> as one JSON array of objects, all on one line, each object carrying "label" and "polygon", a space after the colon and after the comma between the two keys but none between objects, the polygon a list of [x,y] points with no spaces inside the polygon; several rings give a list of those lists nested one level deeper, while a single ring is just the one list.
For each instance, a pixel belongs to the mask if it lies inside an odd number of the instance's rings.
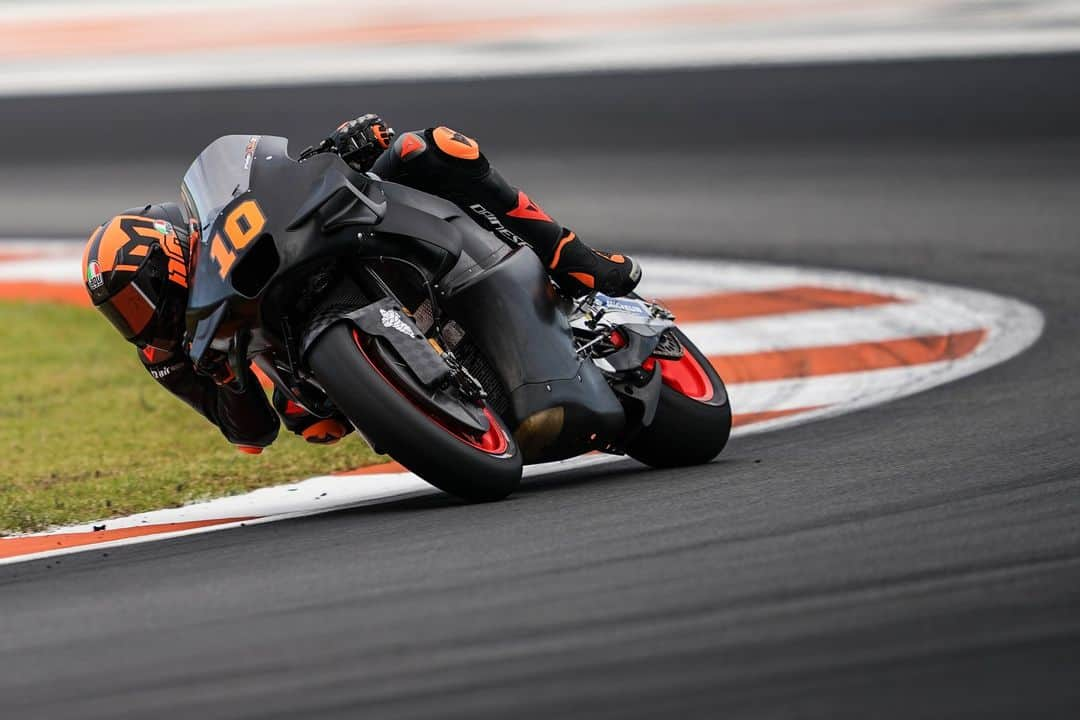
[{"label": "black slick rear tire of the motorcycle, beside the striped curb", "polygon": [[697,361],[712,395],[694,399],[667,382],[661,385],[652,424],[626,447],[626,454],[652,467],[702,465],[720,454],[731,435],[731,404],[724,381],[681,330],[675,330],[675,336],[684,352]]}]

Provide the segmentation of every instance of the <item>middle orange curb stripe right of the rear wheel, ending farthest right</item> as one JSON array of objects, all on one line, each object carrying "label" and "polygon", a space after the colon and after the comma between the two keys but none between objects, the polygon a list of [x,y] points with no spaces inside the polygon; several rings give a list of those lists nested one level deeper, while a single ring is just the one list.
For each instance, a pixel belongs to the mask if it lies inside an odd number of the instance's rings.
[{"label": "middle orange curb stripe right of the rear wheel, ending farthest right", "polygon": [[883,342],[796,348],[742,355],[712,355],[708,362],[728,384],[882,370],[959,359],[974,352],[986,330],[904,338]]}]

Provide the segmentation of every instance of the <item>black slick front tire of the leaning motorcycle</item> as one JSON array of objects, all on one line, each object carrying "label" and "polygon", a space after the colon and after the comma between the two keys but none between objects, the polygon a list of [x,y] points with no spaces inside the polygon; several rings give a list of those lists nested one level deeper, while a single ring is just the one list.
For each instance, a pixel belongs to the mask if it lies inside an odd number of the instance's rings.
[{"label": "black slick front tire of the leaning motorcycle", "polygon": [[462,438],[390,384],[361,350],[350,324],[323,332],[308,363],[326,394],[365,437],[440,490],[468,502],[492,502],[521,484],[522,453],[495,412],[488,410],[487,417],[497,443],[483,449]]}]

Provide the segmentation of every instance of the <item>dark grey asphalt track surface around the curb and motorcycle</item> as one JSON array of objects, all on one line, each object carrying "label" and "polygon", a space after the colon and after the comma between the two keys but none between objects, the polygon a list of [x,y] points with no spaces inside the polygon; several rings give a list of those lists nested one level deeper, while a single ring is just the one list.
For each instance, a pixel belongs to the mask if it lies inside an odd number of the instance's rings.
[{"label": "dark grey asphalt track surface around the curb and motorcycle", "polygon": [[372,108],[461,125],[597,245],[1047,316],[1004,365],[707,466],[0,568],[3,715],[1076,717],[1077,77],[1065,56],[0,101],[9,235],[114,209],[56,196],[66,137],[105,201],[168,187],[219,128],[318,136]]}]

